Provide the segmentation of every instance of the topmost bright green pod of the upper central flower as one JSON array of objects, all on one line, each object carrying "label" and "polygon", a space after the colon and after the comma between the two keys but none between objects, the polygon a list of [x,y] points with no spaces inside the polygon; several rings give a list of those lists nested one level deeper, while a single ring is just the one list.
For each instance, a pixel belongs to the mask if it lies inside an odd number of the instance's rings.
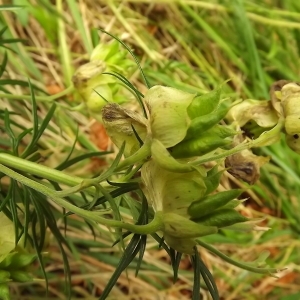
[{"label": "topmost bright green pod of the upper central flower", "polygon": [[187,108],[189,117],[193,120],[213,112],[219,105],[221,89],[196,97]]}]

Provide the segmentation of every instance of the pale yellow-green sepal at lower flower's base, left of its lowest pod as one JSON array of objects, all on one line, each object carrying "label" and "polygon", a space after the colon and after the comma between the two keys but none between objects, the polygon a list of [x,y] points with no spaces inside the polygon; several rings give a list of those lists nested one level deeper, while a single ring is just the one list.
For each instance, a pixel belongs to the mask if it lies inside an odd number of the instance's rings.
[{"label": "pale yellow-green sepal at lower flower's base, left of its lowest pod", "polygon": [[163,216],[163,232],[174,238],[196,238],[216,233],[218,229],[195,223],[176,213],[166,213]]}]

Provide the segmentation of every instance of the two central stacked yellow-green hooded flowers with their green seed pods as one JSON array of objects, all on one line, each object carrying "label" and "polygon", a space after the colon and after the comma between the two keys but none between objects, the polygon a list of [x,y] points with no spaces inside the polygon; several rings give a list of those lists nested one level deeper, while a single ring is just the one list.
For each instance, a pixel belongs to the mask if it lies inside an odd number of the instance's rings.
[{"label": "two central stacked yellow-green hooded flowers with their green seed pods", "polygon": [[193,163],[232,143],[237,132],[219,124],[230,106],[219,89],[198,96],[163,86],[150,88],[144,105],[146,116],[108,104],[103,124],[118,147],[126,142],[125,161],[142,163],[141,189],[162,216],[164,240],[191,254],[196,238],[248,221],[235,210],[240,190],[214,193],[223,171]]}]

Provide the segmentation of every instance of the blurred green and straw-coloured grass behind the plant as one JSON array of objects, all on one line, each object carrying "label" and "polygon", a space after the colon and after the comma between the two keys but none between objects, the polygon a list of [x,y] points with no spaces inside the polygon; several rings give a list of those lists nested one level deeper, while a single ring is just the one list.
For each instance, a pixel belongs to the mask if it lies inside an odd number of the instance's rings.
[{"label": "blurred green and straw-coloured grass behind the plant", "polygon": [[[98,28],[130,45],[153,85],[203,93],[231,79],[224,93],[233,99],[269,99],[274,81],[299,80],[300,2],[296,0],[12,2],[25,7],[1,12],[0,43],[11,50],[6,52],[7,61],[5,48],[1,50],[0,147],[11,148],[12,135],[17,137],[33,127],[36,120],[51,117],[41,136],[36,137],[42,145],[39,157],[30,156],[34,151],[29,147],[28,159],[52,168],[66,168],[72,176],[92,177],[110,160],[109,155],[105,159],[90,158],[89,153],[107,148],[100,123],[84,111],[66,109],[80,103],[72,88],[74,71],[88,61],[98,43],[111,39]],[[34,104],[28,78],[35,87],[37,116],[31,113]],[[130,81],[145,91],[138,71]],[[51,115],[54,102],[57,109]],[[11,132],[7,131],[4,108],[10,112]],[[78,141],[74,144],[76,136]],[[34,147],[32,137],[25,136],[17,143],[19,150],[31,144]],[[63,162],[72,148],[74,157],[87,158],[68,167]],[[214,274],[222,299],[300,299],[300,157],[284,143],[260,152],[271,156],[271,164],[263,168],[260,181],[249,192],[243,213],[266,217],[264,225],[272,230],[251,234],[222,232],[204,240],[242,261],[254,260],[268,250],[268,263],[287,269],[278,279],[240,270],[207,251],[203,251],[202,259]],[[220,189],[230,186],[244,184],[227,174]],[[72,299],[97,299],[122,255],[118,246],[111,247],[113,235],[105,227],[93,231],[76,216],[69,217],[65,227],[61,208],[53,203],[49,208],[55,212],[54,228],[71,247],[57,242],[53,233],[45,237],[48,299],[66,297],[66,258],[72,274]],[[126,211],[123,213],[126,216]],[[179,280],[173,285],[166,253],[149,240],[139,276],[135,277],[133,263],[121,275],[111,297],[189,299],[193,272],[188,259],[182,261],[180,269]],[[38,264],[34,274],[43,278]],[[203,299],[209,299],[205,290],[202,293]],[[45,295],[45,282],[13,284],[12,294],[14,299],[40,299]]]}]

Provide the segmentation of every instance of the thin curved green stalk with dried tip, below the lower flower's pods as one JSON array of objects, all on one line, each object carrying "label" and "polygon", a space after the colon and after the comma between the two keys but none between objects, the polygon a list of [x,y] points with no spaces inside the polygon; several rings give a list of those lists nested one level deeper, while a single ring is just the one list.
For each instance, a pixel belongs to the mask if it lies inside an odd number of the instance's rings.
[{"label": "thin curved green stalk with dried tip, below the lower flower's pods", "polygon": [[222,252],[218,251],[216,248],[202,242],[200,239],[196,239],[196,242],[198,245],[202,246],[203,248],[209,250],[210,252],[214,253],[215,255],[219,256],[226,262],[230,263],[231,265],[234,265],[238,268],[254,272],[254,273],[259,273],[259,274],[272,274],[272,273],[277,273],[279,270],[274,269],[274,268],[255,268],[251,267],[247,264],[240,263],[238,261],[233,260],[232,258],[228,257],[227,255],[223,254]]}]

